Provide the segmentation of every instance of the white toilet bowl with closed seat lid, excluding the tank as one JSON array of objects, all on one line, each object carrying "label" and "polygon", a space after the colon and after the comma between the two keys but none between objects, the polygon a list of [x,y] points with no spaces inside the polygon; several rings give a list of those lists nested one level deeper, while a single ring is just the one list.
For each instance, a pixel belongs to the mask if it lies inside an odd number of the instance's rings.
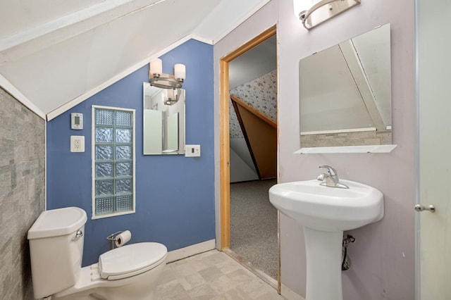
[{"label": "white toilet bowl with closed seat lid, excluding the tank", "polygon": [[[152,299],[166,265],[166,247],[137,243],[101,254],[99,263],[82,268],[79,280],[52,299]],[[158,259],[159,258],[159,259]]]}]

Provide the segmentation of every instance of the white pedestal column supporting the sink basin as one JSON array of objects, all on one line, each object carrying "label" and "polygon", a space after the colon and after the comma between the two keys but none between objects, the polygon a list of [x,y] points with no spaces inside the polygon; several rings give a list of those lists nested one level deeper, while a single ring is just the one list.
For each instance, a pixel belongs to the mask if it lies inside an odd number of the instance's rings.
[{"label": "white pedestal column supporting the sink basin", "polygon": [[306,300],[342,300],[342,231],[304,227],[307,254]]}]

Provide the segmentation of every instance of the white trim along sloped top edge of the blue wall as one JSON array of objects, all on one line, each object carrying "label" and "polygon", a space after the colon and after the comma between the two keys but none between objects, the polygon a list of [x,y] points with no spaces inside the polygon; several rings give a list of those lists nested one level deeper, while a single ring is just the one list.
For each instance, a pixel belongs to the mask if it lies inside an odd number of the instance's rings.
[{"label": "white trim along sloped top edge of the blue wall", "polygon": [[[106,80],[105,82],[101,83],[97,87],[94,87],[94,89],[91,89],[91,90],[85,92],[85,94],[81,94],[80,96],[75,97],[74,99],[70,100],[66,104],[63,104],[62,106],[54,109],[53,111],[50,111],[49,113],[47,113],[47,120],[52,120],[52,119],[58,117],[58,115],[65,113],[70,108],[73,108],[74,106],[82,103],[89,97],[94,96],[94,94],[97,94],[102,89],[106,89],[106,87],[113,85],[114,83],[123,79],[123,77],[130,75],[131,73],[135,72],[139,68],[142,68],[144,65],[149,63],[152,60],[152,58],[162,56],[163,54],[166,54],[167,52],[171,51],[172,49],[175,49],[176,47],[180,46],[181,44],[187,42],[190,39],[195,39],[195,40],[197,40],[199,42],[203,42],[205,44],[210,44],[210,45],[213,44],[213,41],[210,41],[209,39],[204,39],[203,37],[199,37],[197,35],[187,35],[187,36],[183,37],[182,39],[179,39],[177,42],[174,42],[170,46],[167,46],[163,50],[156,52],[155,54],[152,54],[151,56],[140,61],[139,63],[135,63],[135,65],[132,65],[130,68],[124,70],[123,72],[119,73],[118,75],[111,77],[109,80]],[[1,81],[0,81],[0,83],[1,83]]]}]

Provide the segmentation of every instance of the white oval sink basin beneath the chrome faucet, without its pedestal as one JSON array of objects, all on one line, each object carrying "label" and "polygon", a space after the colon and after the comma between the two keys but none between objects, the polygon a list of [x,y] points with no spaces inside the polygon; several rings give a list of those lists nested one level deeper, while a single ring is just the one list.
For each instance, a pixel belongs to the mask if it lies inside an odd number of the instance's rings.
[{"label": "white oval sink basin beneath the chrome faucet, without its pedestal", "polygon": [[269,189],[281,213],[316,230],[352,230],[383,218],[383,194],[374,187],[340,180],[350,187],[319,185],[318,180],[287,182]]}]

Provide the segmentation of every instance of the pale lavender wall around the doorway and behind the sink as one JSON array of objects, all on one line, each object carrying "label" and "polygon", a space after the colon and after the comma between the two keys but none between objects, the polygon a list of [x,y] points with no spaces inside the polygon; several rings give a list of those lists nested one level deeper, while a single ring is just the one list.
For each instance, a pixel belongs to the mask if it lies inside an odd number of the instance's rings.
[{"label": "pale lavender wall around the doorway and behind the sink", "polygon": [[[333,20],[307,31],[292,1],[272,0],[214,46],[215,104],[219,101],[218,61],[273,24],[278,26],[278,179],[309,180],[321,164],[333,165],[344,179],[372,185],[385,196],[385,217],[350,232],[352,268],[343,273],[347,300],[414,299],[414,2],[362,1]],[[293,154],[299,149],[299,59],[391,23],[393,143],[390,154]],[[219,110],[215,107],[216,154]],[[218,166],[218,161],[216,161]],[[216,174],[218,174],[218,167]],[[219,211],[216,181],[216,212]],[[216,232],[219,232],[218,223]],[[281,281],[305,295],[302,227],[281,215]]]}]

